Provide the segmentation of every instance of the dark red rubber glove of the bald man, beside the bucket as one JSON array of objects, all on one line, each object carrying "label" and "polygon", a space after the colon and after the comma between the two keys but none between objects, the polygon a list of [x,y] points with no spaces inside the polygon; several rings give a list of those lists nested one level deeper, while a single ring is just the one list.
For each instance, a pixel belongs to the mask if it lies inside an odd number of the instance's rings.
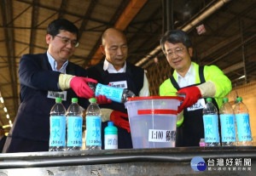
[{"label": "dark red rubber glove of the bald man, beside the bucket", "polygon": [[128,133],[131,132],[129,121],[125,121],[124,118],[128,118],[128,115],[120,111],[112,111],[110,114],[110,121],[119,128],[125,128]]}]

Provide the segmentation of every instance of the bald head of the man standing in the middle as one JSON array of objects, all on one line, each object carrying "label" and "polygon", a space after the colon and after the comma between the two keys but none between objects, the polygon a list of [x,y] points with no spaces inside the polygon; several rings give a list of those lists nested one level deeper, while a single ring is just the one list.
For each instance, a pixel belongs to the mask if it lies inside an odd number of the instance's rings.
[{"label": "bald head of the man standing in the middle", "polygon": [[102,45],[100,46],[102,54],[106,60],[119,71],[127,58],[128,47],[124,33],[114,28],[108,28],[102,35]]}]

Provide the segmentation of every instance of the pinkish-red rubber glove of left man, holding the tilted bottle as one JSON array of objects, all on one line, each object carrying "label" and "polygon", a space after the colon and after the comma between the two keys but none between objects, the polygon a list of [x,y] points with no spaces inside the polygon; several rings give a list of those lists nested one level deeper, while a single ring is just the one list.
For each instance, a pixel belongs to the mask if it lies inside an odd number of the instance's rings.
[{"label": "pinkish-red rubber glove of left man, holding the tilted bottle", "polygon": [[87,82],[95,82],[96,80],[87,77],[73,77],[70,81],[70,87],[81,98],[90,99],[94,97],[94,92],[87,85]]}]

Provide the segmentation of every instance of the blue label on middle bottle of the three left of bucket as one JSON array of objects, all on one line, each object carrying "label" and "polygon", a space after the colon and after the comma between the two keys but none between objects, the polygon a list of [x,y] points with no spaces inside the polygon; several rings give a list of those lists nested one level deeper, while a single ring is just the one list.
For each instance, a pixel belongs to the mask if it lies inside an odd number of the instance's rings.
[{"label": "blue label on middle bottle of the three left of bucket", "polygon": [[82,116],[67,116],[67,146],[82,146]]}]

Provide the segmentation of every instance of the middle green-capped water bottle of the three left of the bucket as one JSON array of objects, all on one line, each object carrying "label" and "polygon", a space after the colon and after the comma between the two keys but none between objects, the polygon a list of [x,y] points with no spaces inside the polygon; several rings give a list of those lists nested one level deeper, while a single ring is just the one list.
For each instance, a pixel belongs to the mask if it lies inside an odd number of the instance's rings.
[{"label": "middle green-capped water bottle of the three left of the bucket", "polygon": [[67,150],[81,150],[82,147],[83,112],[78,101],[73,98],[67,109]]}]

